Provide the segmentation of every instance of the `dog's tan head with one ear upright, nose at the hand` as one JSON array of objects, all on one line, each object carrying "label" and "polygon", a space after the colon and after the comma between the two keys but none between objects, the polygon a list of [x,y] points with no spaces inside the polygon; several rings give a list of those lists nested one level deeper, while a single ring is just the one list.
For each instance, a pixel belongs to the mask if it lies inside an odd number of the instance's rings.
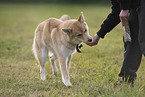
[{"label": "dog's tan head with one ear upright, nose at the hand", "polygon": [[85,22],[83,13],[81,12],[78,20],[73,20],[72,22],[68,28],[62,29],[70,36],[70,41],[74,44],[91,42],[92,37],[89,35],[88,25]]}]

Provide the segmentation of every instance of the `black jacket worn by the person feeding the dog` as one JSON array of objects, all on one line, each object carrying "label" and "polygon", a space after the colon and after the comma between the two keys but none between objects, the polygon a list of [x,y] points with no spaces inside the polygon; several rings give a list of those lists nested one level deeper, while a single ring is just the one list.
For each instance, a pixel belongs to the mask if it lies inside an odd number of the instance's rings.
[{"label": "black jacket worn by the person feeding the dog", "polygon": [[100,30],[97,32],[98,36],[104,36],[110,32],[117,24],[120,23],[119,14],[121,9],[136,9],[139,7],[140,0],[111,0],[112,11],[104,20]]}]

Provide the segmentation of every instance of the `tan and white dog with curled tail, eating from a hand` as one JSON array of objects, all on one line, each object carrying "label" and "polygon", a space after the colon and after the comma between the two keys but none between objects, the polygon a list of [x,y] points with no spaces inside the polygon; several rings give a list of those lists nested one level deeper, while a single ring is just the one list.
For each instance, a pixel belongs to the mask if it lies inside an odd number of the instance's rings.
[{"label": "tan and white dog with curled tail, eating from a hand", "polygon": [[72,86],[69,77],[70,61],[76,45],[90,42],[88,26],[83,13],[78,20],[69,19],[65,15],[60,19],[49,18],[38,25],[35,30],[33,52],[40,65],[41,79],[45,80],[45,62],[49,56],[54,75],[58,75],[55,60],[58,59],[62,81],[66,86]]}]

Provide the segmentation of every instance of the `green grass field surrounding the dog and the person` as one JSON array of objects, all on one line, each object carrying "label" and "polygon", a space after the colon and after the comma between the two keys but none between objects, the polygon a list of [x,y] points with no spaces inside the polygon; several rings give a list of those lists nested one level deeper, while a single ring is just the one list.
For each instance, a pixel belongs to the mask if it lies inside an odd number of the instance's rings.
[{"label": "green grass field surrounding the dog and the person", "polygon": [[[122,28],[118,25],[99,44],[85,44],[75,53],[70,68],[73,87],[66,88],[52,75],[49,60],[46,80],[40,80],[39,66],[32,54],[37,25],[50,17],[68,14],[77,19],[84,12],[90,35],[94,35],[111,11],[110,4],[0,4],[0,96],[1,97],[144,97],[145,59],[137,72],[134,88],[117,84],[123,61]],[[59,70],[60,72],[60,70]]]}]

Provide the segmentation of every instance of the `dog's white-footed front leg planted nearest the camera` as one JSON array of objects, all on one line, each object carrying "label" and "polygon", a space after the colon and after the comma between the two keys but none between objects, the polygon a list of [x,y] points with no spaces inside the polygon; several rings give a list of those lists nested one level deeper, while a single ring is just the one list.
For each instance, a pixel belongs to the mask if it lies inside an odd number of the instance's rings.
[{"label": "dog's white-footed front leg planted nearest the camera", "polygon": [[60,65],[60,70],[62,74],[62,81],[63,83],[68,87],[72,86],[70,83],[70,77],[69,77],[69,72],[67,70],[67,60],[64,57],[59,57],[58,58],[59,65]]}]

